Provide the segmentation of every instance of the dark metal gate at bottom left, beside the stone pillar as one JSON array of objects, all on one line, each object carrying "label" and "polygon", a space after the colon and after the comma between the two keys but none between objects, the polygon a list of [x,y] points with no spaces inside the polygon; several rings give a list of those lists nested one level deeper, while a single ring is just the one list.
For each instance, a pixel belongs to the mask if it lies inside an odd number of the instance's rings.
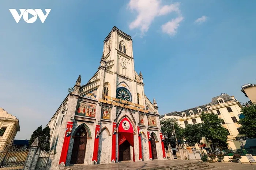
[{"label": "dark metal gate at bottom left, beside the stone pillar", "polygon": [[12,145],[8,150],[0,150],[0,170],[22,170],[29,149]]}]

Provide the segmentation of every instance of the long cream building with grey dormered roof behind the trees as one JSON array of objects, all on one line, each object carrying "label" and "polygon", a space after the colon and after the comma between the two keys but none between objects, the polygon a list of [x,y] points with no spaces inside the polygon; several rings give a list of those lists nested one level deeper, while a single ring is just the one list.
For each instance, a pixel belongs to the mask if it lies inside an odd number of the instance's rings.
[{"label": "long cream building with grey dormered roof behind the trees", "polygon": [[[234,96],[229,96],[228,94],[222,93],[220,96],[212,98],[210,103],[204,104],[202,106],[189,108],[184,111],[174,111],[161,115],[160,119],[175,118],[177,123],[181,127],[185,127],[186,124],[202,123],[201,113],[215,113],[218,117],[222,119],[222,126],[227,129],[228,138],[227,143],[229,149],[240,149],[242,146],[239,137],[244,136],[240,134],[241,125],[238,124],[239,115],[241,114],[241,104],[238,102]],[[204,140],[203,140],[204,141]],[[204,141],[205,148],[211,148],[211,143]]]}]

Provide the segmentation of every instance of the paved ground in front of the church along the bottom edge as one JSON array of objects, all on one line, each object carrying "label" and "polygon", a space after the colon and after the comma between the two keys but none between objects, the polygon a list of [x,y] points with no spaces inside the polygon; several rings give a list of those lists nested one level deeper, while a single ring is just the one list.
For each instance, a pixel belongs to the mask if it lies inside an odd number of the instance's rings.
[{"label": "paved ground in front of the church along the bottom edge", "polygon": [[[199,161],[199,160],[198,160]],[[109,163],[109,164],[98,164],[98,165],[74,165],[68,166],[73,170],[89,170],[89,169],[108,169],[108,170],[132,170],[132,169],[147,169],[158,166],[175,165],[182,163],[191,163],[198,161],[181,161],[181,160],[154,160],[154,161],[142,161],[142,162],[121,162],[121,163]],[[252,170],[250,164],[238,164],[238,163],[208,163],[215,166],[212,169],[217,170]],[[253,165],[256,170],[256,165]]]}]

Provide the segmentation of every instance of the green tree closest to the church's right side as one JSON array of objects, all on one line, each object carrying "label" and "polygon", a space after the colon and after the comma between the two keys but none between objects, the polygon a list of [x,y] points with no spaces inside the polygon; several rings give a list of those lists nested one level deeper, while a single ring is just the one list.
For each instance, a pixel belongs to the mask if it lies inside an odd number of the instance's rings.
[{"label": "green tree closest to the church's right side", "polygon": [[176,147],[176,139],[174,136],[174,130],[176,133],[178,144],[183,143],[183,129],[180,127],[180,125],[177,124],[175,119],[161,119],[161,131],[162,134],[166,137],[165,141],[163,142],[165,144],[165,147],[167,148],[169,143],[170,145],[175,148]]}]

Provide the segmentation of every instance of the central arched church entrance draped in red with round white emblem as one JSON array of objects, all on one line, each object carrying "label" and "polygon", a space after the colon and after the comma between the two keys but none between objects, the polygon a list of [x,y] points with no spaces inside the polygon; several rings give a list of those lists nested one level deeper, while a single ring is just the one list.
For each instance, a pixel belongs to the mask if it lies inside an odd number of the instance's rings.
[{"label": "central arched church entrance draped in red with round white emblem", "polygon": [[118,124],[118,161],[135,161],[133,132],[130,120],[127,117],[121,119]]}]

